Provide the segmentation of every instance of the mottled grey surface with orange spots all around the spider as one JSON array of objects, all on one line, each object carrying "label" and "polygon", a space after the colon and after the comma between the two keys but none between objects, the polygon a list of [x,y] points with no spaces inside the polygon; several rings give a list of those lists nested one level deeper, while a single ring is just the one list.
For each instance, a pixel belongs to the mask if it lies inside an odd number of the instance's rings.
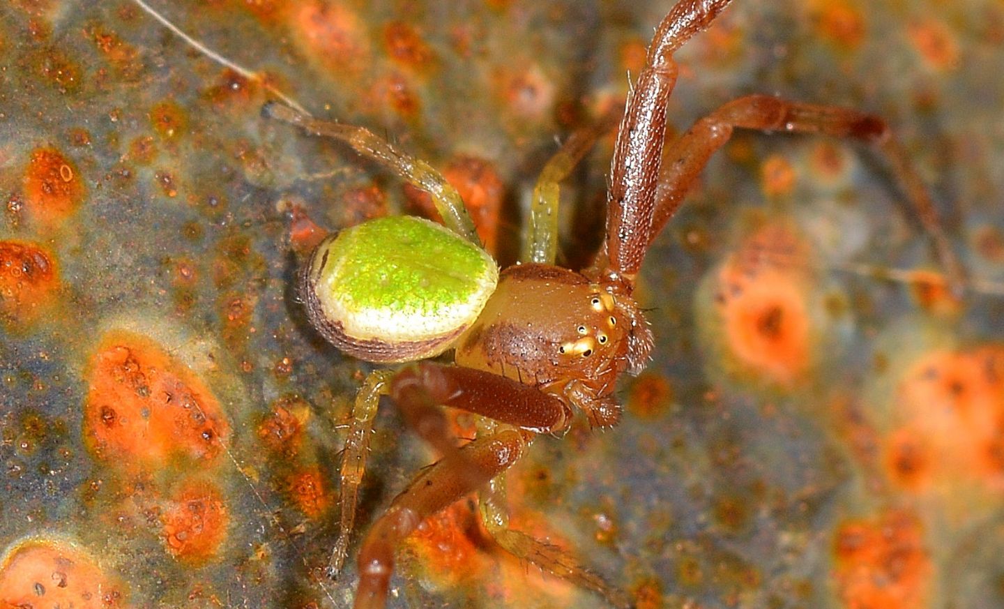
[{"label": "mottled grey surface with orange spots all around the spider", "polygon": [[[623,98],[671,3],[150,1],[212,50],[131,0],[0,7],[0,604],[349,606],[357,543],[321,567],[370,367],[309,328],[296,268],[427,205],[262,105],[432,163],[506,264],[540,169]],[[622,423],[539,438],[513,527],[645,608],[1004,606],[1002,41],[996,0],[737,0],[689,42],[676,130],[751,92],[886,118],[967,289],[881,156],[737,134],[648,254],[657,344]],[[562,190],[569,266],[611,145]],[[433,458],[382,410],[356,542]],[[399,556],[394,607],[605,606],[504,556],[469,501]]]}]

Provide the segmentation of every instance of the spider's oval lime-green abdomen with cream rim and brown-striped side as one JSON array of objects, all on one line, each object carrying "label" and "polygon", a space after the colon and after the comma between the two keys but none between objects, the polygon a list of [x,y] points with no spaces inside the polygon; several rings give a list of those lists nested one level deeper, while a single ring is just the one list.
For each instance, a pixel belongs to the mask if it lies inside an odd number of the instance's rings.
[{"label": "spider's oval lime-green abdomen with cream rim and brown-striped side", "polygon": [[449,229],[378,218],[317,246],[303,271],[311,324],[343,353],[374,363],[439,355],[478,318],[498,266]]}]

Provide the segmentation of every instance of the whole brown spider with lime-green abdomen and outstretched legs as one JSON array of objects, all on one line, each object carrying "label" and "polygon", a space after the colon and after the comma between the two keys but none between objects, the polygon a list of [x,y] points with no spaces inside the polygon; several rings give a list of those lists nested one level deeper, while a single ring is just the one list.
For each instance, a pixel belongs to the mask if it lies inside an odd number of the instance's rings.
[{"label": "whole brown spider with lime-green abdomen and outstretched legs", "polygon": [[[355,607],[382,607],[395,548],[427,517],[479,492],[499,545],[517,557],[628,606],[625,595],[567,554],[508,528],[505,471],[537,434],[561,435],[574,412],[593,427],[620,418],[621,374],[642,371],[653,335],[633,292],[646,251],[681,205],[711,155],[736,129],[850,138],[889,161],[950,278],[961,268],[934,205],[878,117],[846,108],[748,95],[721,106],[666,141],[677,78],[673,54],[731,0],[679,0],[657,28],[619,122],[610,163],[605,240],[591,266],[556,266],[557,185],[602,125],[573,135],[546,166],[531,207],[520,263],[498,272],[481,251],[457,192],[426,163],[360,127],[315,120],[277,103],[267,117],[344,141],[426,190],[446,227],[418,218],[371,220],[335,234],[310,256],[300,292],[314,328],[343,353],[376,364],[356,397],[341,463],[340,535],[329,572],[341,569],[381,396],[444,456],[423,470],[371,526],[358,553]],[[663,160],[667,161],[664,165]],[[453,350],[454,365],[427,361]],[[483,433],[457,446],[442,407],[483,417]]]}]

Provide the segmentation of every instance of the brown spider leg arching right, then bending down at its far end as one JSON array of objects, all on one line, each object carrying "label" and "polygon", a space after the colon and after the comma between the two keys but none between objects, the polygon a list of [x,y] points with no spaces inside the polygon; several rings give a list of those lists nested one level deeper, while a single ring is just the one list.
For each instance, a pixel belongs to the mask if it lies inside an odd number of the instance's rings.
[{"label": "brown spider leg arching right, then bending down at its far end", "polygon": [[846,108],[799,104],[768,95],[748,95],[730,102],[695,123],[668,146],[666,158],[670,165],[662,168],[663,182],[652,219],[650,243],[680,207],[708,159],[725,145],[734,129],[821,134],[873,145],[889,160],[893,174],[931,235],[950,280],[961,285],[963,269],[942,229],[934,203],[885,121]]}]

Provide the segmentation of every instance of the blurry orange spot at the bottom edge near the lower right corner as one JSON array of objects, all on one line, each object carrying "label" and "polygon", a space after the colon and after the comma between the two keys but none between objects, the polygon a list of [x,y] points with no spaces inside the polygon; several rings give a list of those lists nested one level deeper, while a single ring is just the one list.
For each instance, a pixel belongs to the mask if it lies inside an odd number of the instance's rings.
[{"label": "blurry orange spot at the bottom edge near the lower right corner", "polygon": [[849,609],[921,609],[928,603],[931,556],[909,512],[843,524],[835,539],[834,580]]}]

